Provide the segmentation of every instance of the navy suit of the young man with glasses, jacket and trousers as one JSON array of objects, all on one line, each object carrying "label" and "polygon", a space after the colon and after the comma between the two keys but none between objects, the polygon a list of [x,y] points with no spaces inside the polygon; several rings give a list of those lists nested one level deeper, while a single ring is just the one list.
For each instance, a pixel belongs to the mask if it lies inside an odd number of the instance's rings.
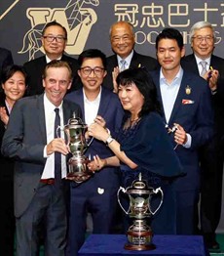
[{"label": "navy suit of the young man with glasses, jacket and trousers", "polygon": [[[83,89],[68,94],[66,99],[79,104],[83,111],[83,116],[85,116]],[[106,127],[113,137],[116,137],[119,132],[123,113],[124,111],[117,95],[102,87],[97,114],[105,119]],[[103,142],[94,139],[86,155],[91,155],[93,158],[93,155],[96,154],[101,158],[114,155]],[[119,169],[115,167],[103,168],[80,185],[71,183],[68,255],[77,255],[85,240],[88,212],[93,216],[93,234],[111,233],[117,208],[116,194],[119,185]]]}]

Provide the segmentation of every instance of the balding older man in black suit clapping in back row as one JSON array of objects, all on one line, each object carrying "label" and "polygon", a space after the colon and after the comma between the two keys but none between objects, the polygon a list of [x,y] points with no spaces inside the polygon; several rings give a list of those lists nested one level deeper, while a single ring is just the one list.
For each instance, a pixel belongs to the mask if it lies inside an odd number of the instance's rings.
[{"label": "balding older man in black suit clapping in back row", "polygon": [[129,67],[144,66],[153,70],[158,65],[157,61],[150,57],[136,53],[133,48],[135,36],[133,26],[127,21],[118,21],[110,28],[110,43],[114,55],[107,58],[107,75],[103,85],[117,92],[116,77],[120,71]]}]

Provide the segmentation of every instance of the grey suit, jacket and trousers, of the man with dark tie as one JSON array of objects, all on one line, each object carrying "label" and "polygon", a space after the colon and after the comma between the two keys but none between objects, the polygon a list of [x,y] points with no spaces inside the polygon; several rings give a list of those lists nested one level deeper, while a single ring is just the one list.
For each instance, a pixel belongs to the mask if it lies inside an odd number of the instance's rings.
[{"label": "grey suit, jacket and trousers, of the man with dark tie", "polygon": [[[81,116],[80,107],[68,101],[63,101],[62,109],[64,124],[74,111],[76,116]],[[64,255],[66,211],[63,190],[40,183],[46,163],[46,145],[43,95],[20,99],[11,112],[2,142],[2,153],[16,159],[14,186],[18,256],[37,253],[36,232],[43,219],[46,221],[46,255]],[[49,198],[52,194],[53,198]]]}]

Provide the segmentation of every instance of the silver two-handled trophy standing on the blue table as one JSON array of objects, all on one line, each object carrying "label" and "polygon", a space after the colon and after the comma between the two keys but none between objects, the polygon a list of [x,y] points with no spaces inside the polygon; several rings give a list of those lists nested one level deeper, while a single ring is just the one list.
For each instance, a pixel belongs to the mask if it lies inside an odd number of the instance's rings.
[{"label": "silver two-handled trophy standing on the blue table", "polygon": [[[120,192],[129,195],[130,205],[129,209],[125,210],[120,200]],[[156,210],[152,211],[150,206],[151,196],[153,194],[161,193],[161,201]],[[118,202],[123,211],[133,218],[133,224],[128,231],[128,243],[125,248],[128,250],[152,250],[155,249],[155,244],[152,242],[153,232],[151,227],[146,225],[145,218],[154,215],[161,207],[164,199],[164,192],[161,188],[154,190],[148,187],[147,182],[141,179],[141,174],[138,180],[132,182],[131,187],[127,189],[120,188],[117,192]]]}]

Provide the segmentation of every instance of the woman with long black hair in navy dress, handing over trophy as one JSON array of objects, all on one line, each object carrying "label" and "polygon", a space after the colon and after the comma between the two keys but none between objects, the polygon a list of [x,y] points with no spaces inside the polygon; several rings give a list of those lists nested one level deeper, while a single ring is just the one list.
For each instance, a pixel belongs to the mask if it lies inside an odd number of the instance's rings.
[{"label": "woman with long black hair in navy dress, handing over trophy", "polygon": [[150,187],[161,187],[164,203],[151,226],[155,234],[175,234],[171,184],[183,173],[160,116],[156,87],[144,68],[121,72],[117,83],[119,99],[127,112],[117,140],[96,123],[89,127],[89,135],[105,142],[115,156],[100,159],[95,155],[90,168],[96,171],[107,165],[120,166],[125,188],[139,173]]}]

